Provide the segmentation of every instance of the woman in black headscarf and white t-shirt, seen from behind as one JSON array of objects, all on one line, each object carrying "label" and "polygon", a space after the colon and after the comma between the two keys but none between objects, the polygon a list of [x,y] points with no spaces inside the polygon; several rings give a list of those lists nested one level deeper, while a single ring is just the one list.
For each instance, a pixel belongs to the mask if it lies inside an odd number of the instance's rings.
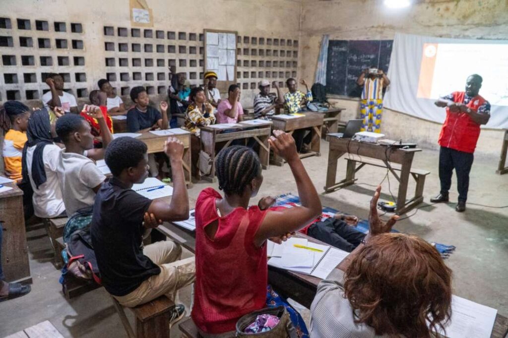
[{"label": "woman in black headscarf and white t-shirt, seen from behind", "polygon": [[[61,116],[61,115],[60,115]],[[55,143],[54,130],[46,109],[34,112],[28,120],[28,141],[23,149],[23,182],[34,190],[35,215],[40,218],[65,217],[56,168],[61,149]]]}]

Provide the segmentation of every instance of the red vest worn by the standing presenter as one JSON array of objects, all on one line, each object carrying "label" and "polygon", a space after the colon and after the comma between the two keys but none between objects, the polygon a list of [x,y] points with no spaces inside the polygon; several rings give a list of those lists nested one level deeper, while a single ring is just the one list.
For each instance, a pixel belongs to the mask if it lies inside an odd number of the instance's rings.
[{"label": "red vest worn by the standing presenter", "polygon": [[[452,95],[453,102],[464,103],[465,92],[456,91]],[[467,107],[477,111],[485,101],[485,98],[477,95],[471,98]],[[447,107],[446,120],[439,134],[438,143],[441,147],[473,153],[479,136],[480,124],[474,122],[466,113],[452,113]]]}]

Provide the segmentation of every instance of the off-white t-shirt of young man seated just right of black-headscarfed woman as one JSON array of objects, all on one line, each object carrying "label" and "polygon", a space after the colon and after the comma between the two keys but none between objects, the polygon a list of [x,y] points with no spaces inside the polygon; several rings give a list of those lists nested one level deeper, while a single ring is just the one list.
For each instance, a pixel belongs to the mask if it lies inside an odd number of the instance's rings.
[{"label": "off-white t-shirt of young man seated just right of black-headscarfed woman", "polygon": [[96,193],[92,189],[106,179],[91,159],[66,153],[65,149],[61,149],[57,173],[69,217],[79,209],[93,206]]}]

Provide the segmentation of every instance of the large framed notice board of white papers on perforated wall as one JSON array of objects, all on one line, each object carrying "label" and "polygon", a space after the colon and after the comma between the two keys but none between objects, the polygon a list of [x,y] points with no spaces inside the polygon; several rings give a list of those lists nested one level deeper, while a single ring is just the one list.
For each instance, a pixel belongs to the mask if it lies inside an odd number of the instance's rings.
[{"label": "large framed notice board of white papers on perforated wall", "polygon": [[217,73],[219,87],[236,83],[236,36],[234,31],[205,29],[205,70]]}]

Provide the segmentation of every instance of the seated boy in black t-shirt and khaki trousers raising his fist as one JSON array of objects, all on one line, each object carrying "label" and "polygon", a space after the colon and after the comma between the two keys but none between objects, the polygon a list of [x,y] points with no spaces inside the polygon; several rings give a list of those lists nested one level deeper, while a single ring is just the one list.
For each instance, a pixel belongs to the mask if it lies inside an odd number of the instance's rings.
[{"label": "seated boy in black t-shirt and khaki trousers raising his fist", "polygon": [[[129,137],[109,144],[105,159],[113,177],[97,192],[90,226],[102,284],[125,307],[135,307],[161,295],[174,301],[179,289],[194,282],[196,272],[194,257],[180,260],[182,249],[174,242],[157,242],[142,248],[145,229],[163,221],[185,220],[189,215],[183,144],[168,138],[164,147],[173,172],[170,203],[148,199],[131,189],[148,176],[146,150],[143,142]],[[143,224],[147,214],[153,214],[153,220]],[[183,313],[183,305],[177,305],[172,318],[178,320]]]}]

